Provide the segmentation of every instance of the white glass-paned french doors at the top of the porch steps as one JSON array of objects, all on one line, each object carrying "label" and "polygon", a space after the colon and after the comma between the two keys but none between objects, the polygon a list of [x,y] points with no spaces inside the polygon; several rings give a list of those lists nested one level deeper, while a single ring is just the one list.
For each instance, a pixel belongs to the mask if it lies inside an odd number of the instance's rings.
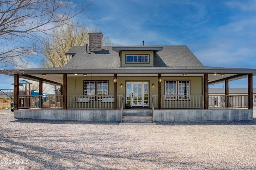
[{"label": "white glass-paned french doors at the top of the porch steps", "polygon": [[148,106],[148,82],[126,82],[126,103],[131,107]]}]

